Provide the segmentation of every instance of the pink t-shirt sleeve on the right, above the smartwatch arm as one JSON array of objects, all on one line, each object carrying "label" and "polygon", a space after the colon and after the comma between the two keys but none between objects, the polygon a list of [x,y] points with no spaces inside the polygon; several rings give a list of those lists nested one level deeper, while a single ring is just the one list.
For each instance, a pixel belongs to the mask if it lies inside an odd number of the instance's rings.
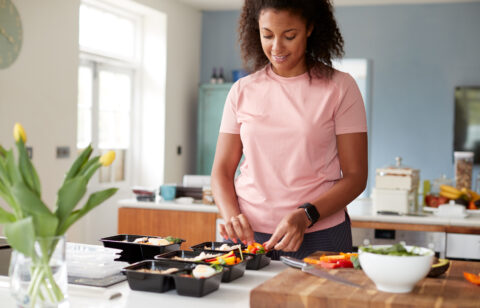
[{"label": "pink t-shirt sleeve on the right, above the smartwatch arm", "polygon": [[340,86],[339,103],[335,109],[335,134],[361,133],[367,131],[367,117],[362,94],[355,79],[345,74]]}]

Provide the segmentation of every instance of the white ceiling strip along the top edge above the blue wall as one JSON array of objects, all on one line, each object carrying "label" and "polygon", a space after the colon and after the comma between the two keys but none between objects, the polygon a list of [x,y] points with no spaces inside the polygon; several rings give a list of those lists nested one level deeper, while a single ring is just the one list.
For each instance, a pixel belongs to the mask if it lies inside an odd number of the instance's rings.
[{"label": "white ceiling strip along the top edge above the blue wall", "polygon": [[[179,0],[202,11],[238,10],[243,0]],[[480,0],[332,0],[334,6],[480,2]]]}]

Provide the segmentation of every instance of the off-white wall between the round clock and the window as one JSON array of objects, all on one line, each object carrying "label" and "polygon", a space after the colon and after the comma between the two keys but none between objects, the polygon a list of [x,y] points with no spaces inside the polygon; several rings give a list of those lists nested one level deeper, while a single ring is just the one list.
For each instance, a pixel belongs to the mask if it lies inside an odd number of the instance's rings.
[{"label": "off-white wall between the round clock and the window", "polygon": [[[44,201],[53,207],[72,159],[56,159],[56,146],[76,144],[78,0],[14,0],[23,26],[17,60],[0,69],[0,143],[13,147],[20,122],[33,147]],[[3,200],[0,201],[3,204]]]}]

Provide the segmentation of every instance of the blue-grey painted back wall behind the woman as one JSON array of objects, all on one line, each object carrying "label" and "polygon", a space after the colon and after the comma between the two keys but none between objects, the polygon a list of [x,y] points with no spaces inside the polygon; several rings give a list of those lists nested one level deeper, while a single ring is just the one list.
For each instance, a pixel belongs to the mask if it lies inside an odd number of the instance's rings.
[{"label": "blue-grey painted back wall behind the woman", "polygon": [[[453,177],[454,88],[480,85],[480,3],[338,7],[345,57],[371,61],[370,177],[395,156]],[[201,81],[241,67],[239,11],[204,12]],[[480,162],[479,162],[480,163]]]}]

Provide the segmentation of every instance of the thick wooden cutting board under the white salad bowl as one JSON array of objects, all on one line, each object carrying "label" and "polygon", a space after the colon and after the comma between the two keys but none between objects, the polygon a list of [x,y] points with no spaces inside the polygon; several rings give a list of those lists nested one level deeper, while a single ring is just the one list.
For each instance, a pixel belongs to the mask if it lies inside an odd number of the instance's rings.
[{"label": "thick wooden cutting board under the white salad bowl", "polygon": [[[317,252],[312,257],[318,257]],[[480,286],[463,277],[479,273],[480,262],[451,261],[448,271],[425,278],[410,293],[378,291],[362,270],[333,269],[330,274],[363,286],[350,287],[288,268],[250,292],[250,306],[260,307],[479,307]]]}]

